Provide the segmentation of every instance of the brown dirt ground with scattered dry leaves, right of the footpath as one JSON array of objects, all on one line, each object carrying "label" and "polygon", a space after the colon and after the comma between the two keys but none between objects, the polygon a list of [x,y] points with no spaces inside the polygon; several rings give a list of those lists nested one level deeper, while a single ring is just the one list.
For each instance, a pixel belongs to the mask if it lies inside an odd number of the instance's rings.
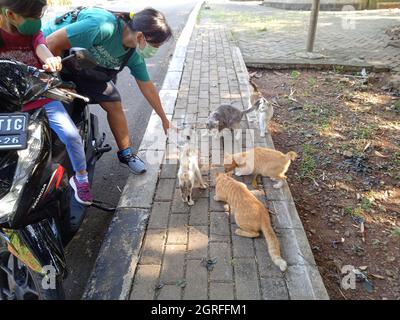
[{"label": "brown dirt ground with scattered dry leaves, right of the footpath", "polygon": [[[388,74],[249,70],[299,158],[295,203],[331,299],[400,299],[400,100]],[[341,288],[343,266],[356,289]]]}]

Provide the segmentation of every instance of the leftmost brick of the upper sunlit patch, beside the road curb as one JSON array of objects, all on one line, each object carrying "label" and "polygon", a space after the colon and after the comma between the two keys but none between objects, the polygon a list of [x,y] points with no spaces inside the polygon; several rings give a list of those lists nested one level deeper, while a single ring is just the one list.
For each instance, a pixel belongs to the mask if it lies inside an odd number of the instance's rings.
[{"label": "leftmost brick of the upper sunlit patch, beside the road curb", "polygon": [[161,264],[165,239],[165,229],[148,230],[139,263]]}]

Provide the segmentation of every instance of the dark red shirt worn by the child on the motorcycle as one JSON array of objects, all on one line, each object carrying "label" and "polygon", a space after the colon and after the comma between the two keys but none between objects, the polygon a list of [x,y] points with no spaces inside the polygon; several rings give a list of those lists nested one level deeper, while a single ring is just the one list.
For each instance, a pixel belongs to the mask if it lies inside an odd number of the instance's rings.
[{"label": "dark red shirt worn by the child on the motorcycle", "polygon": [[[0,28],[0,37],[2,39],[0,57],[17,60],[36,68],[42,68],[42,63],[36,55],[36,48],[40,44],[47,45],[47,43],[41,31],[34,36],[24,36],[19,33],[8,33]],[[36,109],[51,101],[51,99],[39,99],[25,104],[22,109],[23,111]]]}]

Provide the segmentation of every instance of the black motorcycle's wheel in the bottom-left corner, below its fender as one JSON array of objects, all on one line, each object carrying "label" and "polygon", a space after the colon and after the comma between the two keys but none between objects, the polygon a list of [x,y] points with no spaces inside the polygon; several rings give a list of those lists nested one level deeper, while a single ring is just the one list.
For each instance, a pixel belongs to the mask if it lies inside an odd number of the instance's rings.
[{"label": "black motorcycle's wheel in the bottom-left corner, below its fender", "polygon": [[65,299],[61,277],[57,277],[55,289],[44,289],[42,281],[43,275],[14,257],[0,239],[0,301]]}]

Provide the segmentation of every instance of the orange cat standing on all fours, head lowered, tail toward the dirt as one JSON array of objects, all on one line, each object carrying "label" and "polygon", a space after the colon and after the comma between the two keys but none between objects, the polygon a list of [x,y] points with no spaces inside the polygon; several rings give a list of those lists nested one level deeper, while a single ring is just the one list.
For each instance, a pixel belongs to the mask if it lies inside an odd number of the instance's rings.
[{"label": "orange cat standing on all fours, head lowered, tail toward the dirt", "polygon": [[274,188],[280,188],[286,180],[285,174],[291,161],[296,157],[297,154],[293,151],[283,154],[274,149],[256,147],[246,152],[225,156],[224,166],[226,172],[235,169],[237,176],[254,174],[255,177],[257,175],[270,177],[278,181]]}]

